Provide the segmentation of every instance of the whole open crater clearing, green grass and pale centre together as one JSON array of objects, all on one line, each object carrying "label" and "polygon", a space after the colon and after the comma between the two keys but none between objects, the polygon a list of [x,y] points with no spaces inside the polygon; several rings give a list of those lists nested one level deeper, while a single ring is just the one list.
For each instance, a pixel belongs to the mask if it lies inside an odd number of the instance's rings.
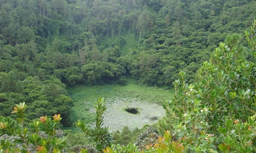
[{"label": "whole open crater clearing, green grass and pale centre together", "polygon": [[77,86],[69,90],[74,100],[74,107],[71,108],[73,122],[80,119],[93,124],[95,101],[98,97],[104,97],[107,107],[104,124],[110,126],[112,131],[121,130],[123,126],[141,128],[145,124],[157,122],[165,115],[162,108],[164,99],[171,99],[173,95],[172,90],[134,83],[125,86]]}]

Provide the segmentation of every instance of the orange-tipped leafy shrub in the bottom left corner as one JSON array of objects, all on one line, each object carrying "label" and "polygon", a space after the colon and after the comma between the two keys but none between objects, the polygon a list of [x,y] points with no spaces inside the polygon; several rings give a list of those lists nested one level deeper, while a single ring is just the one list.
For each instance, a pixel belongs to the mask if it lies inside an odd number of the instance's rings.
[{"label": "orange-tipped leafy shrub in the bottom left corner", "polygon": [[[1,140],[1,152],[60,152],[66,146],[66,139],[57,137],[60,114],[55,114],[52,119],[41,116],[30,124],[30,129],[24,126],[25,110],[27,105],[19,103],[12,113],[16,113],[18,123],[11,120],[1,120],[0,131],[14,137],[14,143],[9,140]],[[4,121],[4,122],[3,122]],[[18,128],[17,128],[18,127]],[[17,144],[21,144],[19,147]]]}]

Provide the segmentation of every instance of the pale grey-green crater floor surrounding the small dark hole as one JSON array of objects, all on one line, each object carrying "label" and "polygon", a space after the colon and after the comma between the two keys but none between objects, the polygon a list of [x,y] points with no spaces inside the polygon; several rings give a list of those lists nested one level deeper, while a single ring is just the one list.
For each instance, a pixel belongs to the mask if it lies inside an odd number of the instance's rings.
[{"label": "pale grey-green crater floor surrounding the small dark hole", "polygon": [[[135,129],[136,127],[141,128],[145,124],[151,125],[165,115],[162,106],[138,99],[108,98],[106,99],[106,108],[104,126],[109,126],[113,132],[121,131],[124,126]],[[126,112],[126,108],[136,108],[139,113]]]}]

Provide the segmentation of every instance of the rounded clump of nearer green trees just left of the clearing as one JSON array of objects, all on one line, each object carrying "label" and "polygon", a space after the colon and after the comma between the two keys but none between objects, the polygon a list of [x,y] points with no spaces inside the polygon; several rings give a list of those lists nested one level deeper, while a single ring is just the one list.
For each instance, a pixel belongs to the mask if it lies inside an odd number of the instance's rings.
[{"label": "rounded clump of nearer green trees just left of the clearing", "polygon": [[15,103],[25,101],[29,104],[26,122],[42,115],[61,114],[62,123],[71,125],[69,107],[73,106],[73,100],[68,96],[64,84],[56,78],[40,81],[37,76],[20,81],[15,79],[18,76],[19,73],[14,71],[1,72],[0,115],[9,116]]}]

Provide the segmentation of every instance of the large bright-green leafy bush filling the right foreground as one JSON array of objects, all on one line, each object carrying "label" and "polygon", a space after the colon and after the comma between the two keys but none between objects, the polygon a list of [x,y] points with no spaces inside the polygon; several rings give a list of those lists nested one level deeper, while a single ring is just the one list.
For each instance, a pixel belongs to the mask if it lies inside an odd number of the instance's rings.
[{"label": "large bright-green leafy bush filling the right foreground", "polygon": [[[220,43],[211,62],[204,62],[198,82],[189,85],[180,71],[173,83],[174,98],[163,106],[172,133],[150,143],[144,152],[255,152],[255,25],[254,19],[250,34],[246,32],[253,62],[236,55],[241,51],[238,44],[229,48]],[[139,152],[132,144],[113,145],[104,152],[129,149]]]}]

